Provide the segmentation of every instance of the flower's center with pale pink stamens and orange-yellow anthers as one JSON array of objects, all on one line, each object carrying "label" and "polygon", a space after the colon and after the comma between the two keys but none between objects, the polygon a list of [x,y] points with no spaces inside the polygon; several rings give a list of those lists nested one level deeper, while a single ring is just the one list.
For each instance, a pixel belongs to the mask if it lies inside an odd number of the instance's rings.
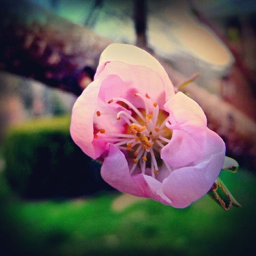
[{"label": "flower's center with pale pink stamens and orange-yellow anthers", "polygon": [[[126,108],[127,111],[118,112],[116,119],[124,120],[126,123],[126,132],[109,133],[104,129],[97,130],[101,138],[114,144],[120,150],[127,151],[132,159],[130,174],[140,167],[142,173],[146,173],[155,178],[159,172],[158,164],[165,164],[167,170],[171,168],[160,158],[161,149],[170,142],[172,131],[166,127],[168,122],[168,113],[160,110],[156,102],[152,102],[150,96],[135,93],[135,97],[141,98],[144,108],[136,108],[130,101],[124,98],[113,98],[108,104],[116,102]],[[130,114],[131,113],[131,114]],[[96,112],[100,116],[100,112]],[[95,134],[94,138],[98,138]],[[149,169],[147,169],[149,168]],[[150,173],[148,173],[150,170]]]}]

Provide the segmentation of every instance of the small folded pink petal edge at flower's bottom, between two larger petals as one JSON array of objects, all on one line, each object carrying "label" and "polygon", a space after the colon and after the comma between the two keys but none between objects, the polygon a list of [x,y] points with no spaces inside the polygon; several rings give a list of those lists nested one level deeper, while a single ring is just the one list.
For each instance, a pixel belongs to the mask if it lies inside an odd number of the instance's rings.
[{"label": "small folded pink petal edge at flower's bottom, between two larger petals", "polygon": [[132,179],[142,188],[144,197],[152,198],[162,204],[171,204],[171,200],[162,190],[162,183],[155,178],[141,173],[132,176]]}]

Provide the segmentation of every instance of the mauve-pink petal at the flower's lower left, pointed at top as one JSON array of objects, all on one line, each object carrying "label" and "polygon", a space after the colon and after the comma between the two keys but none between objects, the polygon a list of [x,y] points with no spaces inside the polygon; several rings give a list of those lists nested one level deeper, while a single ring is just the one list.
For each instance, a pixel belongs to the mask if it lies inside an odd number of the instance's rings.
[{"label": "mauve-pink petal at the flower's lower left, pointed at top", "polygon": [[144,196],[140,186],[134,183],[124,154],[110,145],[108,156],[101,167],[102,178],[112,187],[134,196]]}]

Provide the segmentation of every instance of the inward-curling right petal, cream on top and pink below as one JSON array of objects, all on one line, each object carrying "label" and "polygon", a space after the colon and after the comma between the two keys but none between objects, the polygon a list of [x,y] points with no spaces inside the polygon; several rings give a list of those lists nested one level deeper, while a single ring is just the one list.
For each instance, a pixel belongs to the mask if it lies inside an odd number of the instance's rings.
[{"label": "inward-curling right petal, cream on top and pink below", "polygon": [[170,113],[166,123],[173,129],[170,142],[162,149],[161,158],[171,167],[181,167],[200,156],[206,140],[206,116],[191,98],[178,92],[164,105]]}]

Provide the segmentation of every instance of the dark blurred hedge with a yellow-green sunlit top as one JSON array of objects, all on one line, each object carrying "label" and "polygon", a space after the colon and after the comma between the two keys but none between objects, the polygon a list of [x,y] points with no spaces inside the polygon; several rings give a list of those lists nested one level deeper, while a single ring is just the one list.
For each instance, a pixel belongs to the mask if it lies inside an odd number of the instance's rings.
[{"label": "dark blurred hedge with a yellow-green sunlit top", "polygon": [[110,189],[100,164],[74,144],[70,117],[37,119],[11,128],[3,146],[6,176],[20,196],[80,196]]}]

